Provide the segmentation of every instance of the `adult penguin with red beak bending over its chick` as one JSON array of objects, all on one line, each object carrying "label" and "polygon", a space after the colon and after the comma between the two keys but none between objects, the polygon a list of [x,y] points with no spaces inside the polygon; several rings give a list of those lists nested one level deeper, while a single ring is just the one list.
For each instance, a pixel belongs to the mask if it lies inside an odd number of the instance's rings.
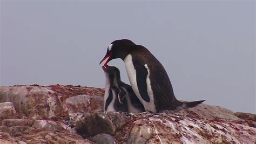
[{"label": "adult penguin with red beak bending over its chick", "polygon": [[110,60],[116,58],[124,61],[132,89],[148,112],[194,107],[205,101],[177,100],[163,65],[142,45],[134,44],[129,39],[115,40],[107,47],[100,64],[106,59],[104,66],[107,66]]}]

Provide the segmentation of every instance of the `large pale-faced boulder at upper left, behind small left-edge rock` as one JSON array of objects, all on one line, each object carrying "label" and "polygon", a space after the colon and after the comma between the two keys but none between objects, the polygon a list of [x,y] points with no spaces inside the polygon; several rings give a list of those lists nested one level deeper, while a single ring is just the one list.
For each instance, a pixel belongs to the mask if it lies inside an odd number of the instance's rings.
[{"label": "large pale-faced boulder at upper left, behind small left-edge rock", "polygon": [[[15,86],[0,88],[0,102],[10,101],[18,109],[19,115],[32,119],[51,117],[51,97],[54,92],[45,87]],[[50,99],[50,101],[49,101]]]}]

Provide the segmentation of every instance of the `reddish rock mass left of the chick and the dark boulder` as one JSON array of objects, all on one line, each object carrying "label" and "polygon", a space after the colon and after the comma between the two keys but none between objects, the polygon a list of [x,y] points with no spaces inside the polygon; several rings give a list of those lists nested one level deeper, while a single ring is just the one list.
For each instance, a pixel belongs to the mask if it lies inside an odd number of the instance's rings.
[{"label": "reddish rock mass left of the chick and the dark boulder", "polygon": [[91,143],[71,126],[85,112],[102,111],[103,94],[71,85],[0,87],[0,143]]}]

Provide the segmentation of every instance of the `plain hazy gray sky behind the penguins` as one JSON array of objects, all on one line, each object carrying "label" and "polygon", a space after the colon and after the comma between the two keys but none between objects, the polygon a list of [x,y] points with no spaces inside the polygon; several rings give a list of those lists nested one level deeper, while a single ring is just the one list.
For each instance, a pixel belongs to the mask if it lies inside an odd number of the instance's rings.
[{"label": "plain hazy gray sky behind the penguins", "polygon": [[[104,87],[116,39],[144,45],[180,100],[255,113],[255,3],[1,1],[1,86]],[[129,83],[122,60],[112,60]]]}]

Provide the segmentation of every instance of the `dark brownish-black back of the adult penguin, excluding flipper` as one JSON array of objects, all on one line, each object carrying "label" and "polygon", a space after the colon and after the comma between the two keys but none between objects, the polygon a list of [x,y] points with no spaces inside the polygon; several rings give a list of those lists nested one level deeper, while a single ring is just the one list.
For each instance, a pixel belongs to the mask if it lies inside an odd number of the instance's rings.
[{"label": "dark brownish-black back of the adult penguin, excluding flipper", "polygon": [[[176,109],[182,105],[173,93],[171,81],[163,65],[144,46],[136,45],[131,51],[133,65],[136,71],[147,64],[150,70],[151,88],[154,94],[154,104],[157,112]],[[137,81],[138,82],[138,81]],[[142,82],[144,85],[145,81]]]}]

